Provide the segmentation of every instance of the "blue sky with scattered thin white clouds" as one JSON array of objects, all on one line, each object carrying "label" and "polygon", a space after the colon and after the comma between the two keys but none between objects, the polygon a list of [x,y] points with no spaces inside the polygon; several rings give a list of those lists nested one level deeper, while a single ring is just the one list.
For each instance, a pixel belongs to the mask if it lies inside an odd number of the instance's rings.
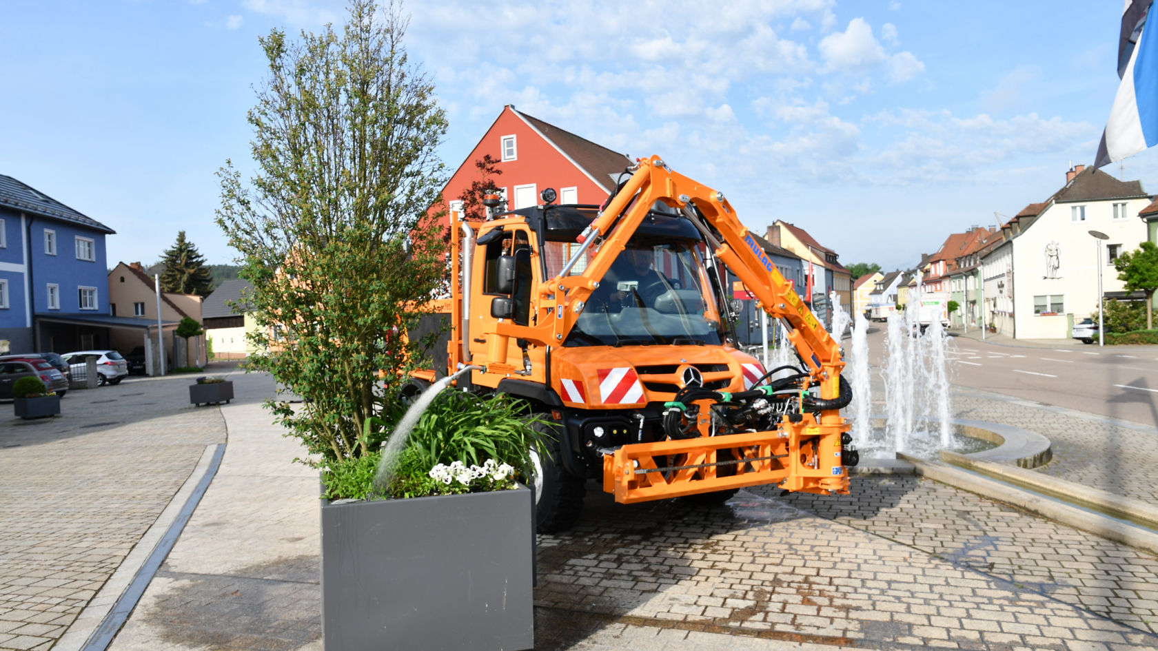
[{"label": "blue sky with scattered thin white clouds", "polygon": [[[1092,163],[1117,88],[1121,2],[460,0],[405,5],[450,122],[453,170],[506,103],[660,154],[762,233],[910,266]],[[213,263],[217,169],[248,169],[257,38],[340,24],[330,0],[6,2],[0,174],[117,231],[109,265],[178,229]],[[1107,171],[1158,192],[1158,154]],[[999,213],[995,217],[994,213]]]}]

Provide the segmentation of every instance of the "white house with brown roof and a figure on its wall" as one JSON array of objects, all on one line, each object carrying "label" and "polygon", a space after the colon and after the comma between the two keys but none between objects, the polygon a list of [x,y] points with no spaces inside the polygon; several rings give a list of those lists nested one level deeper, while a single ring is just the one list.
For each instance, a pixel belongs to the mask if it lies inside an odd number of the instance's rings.
[{"label": "white house with brown roof and a figure on its wall", "polygon": [[1141,182],[1078,166],[1067,173],[1065,185],[1053,197],[1018,213],[1006,225],[1009,231],[1003,227],[1010,249],[1007,281],[1014,288],[1013,336],[1069,337],[1075,320],[1098,309],[1099,271],[1104,293],[1122,294],[1114,259],[1146,239],[1146,224],[1138,214],[1150,203]]}]

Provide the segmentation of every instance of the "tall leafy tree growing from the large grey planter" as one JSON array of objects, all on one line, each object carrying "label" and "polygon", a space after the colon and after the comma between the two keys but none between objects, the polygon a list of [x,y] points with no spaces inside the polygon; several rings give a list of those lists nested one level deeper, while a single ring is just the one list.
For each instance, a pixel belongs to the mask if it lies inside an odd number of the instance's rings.
[{"label": "tall leafy tree growing from the large grey planter", "polygon": [[[261,38],[269,64],[248,120],[255,174],[218,173],[218,224],[241,253],[262,326],[250,366],[305,402],[266,402],[322,462],[367,454],[361,437],[433,337],[405,337],[416,301],[445,288],[440,229],[446,116],[408,60],[406,20],[352,0],[340,34]],[[383,379],[379,379],[379,372]],[[381,436],[381,434],[374,434]],[[306,462],[310,462],[307,460]]]}]

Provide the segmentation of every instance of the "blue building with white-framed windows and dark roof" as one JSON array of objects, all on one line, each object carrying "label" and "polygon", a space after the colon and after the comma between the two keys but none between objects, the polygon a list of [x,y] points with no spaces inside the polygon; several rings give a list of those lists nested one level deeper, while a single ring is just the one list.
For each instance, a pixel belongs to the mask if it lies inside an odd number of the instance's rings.
[{"label": "blue building with white-framed windows and dark roof", "polygon": [[115,231],[0,174],[0,351],[108,346]]}]

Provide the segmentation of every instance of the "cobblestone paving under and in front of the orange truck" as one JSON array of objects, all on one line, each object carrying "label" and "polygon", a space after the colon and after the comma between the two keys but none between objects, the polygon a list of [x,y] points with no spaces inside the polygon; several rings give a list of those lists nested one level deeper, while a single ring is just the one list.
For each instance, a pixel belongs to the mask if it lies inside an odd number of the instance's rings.
[{"label": "cobblestone paving under and in front of the orange truck", "polygon": [[[856,478],[853,497],[811,504],[760,492],[717,510],[588,492],[574,532],[541,536],[535,595],[540,620],[589,623],[536,627],[536,648],[622,648],[646,629],[657,643],[727,634],[764,648],[1158,648],[1143,614],[1158,563],[1129,548],[913,477]],[[1077,566],[1050,576],[1061,562]]]}]

